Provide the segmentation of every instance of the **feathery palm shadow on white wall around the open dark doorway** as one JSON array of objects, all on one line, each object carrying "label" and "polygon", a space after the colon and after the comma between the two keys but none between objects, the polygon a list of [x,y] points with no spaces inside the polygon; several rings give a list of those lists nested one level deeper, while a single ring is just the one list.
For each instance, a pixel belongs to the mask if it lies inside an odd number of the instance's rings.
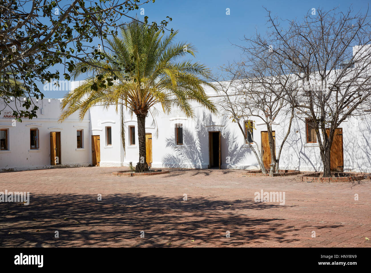
[{"label": "feathery palm shadow on white wall around the open dark doorway", "polygon": [[238,141],[239,138],[230,133],[229,119],[226,116],[221,117],[219,121],[223,126],[206,127],[206,125],[216,123],[211,114],[205,112],[202,117],[196,115],[195,121],[199,125],[198,130],[183,127],[183,145],[176,145],[175,136],[165,139],[166,147],[170,147],[173,153],[167,153],[162,158],[164,167],[207,168],[209,164],[209,131],[221,131],[221,164],[227,165],[227,168],[233,168],[246,157],[253,156],[251,150],[243,147]]}]

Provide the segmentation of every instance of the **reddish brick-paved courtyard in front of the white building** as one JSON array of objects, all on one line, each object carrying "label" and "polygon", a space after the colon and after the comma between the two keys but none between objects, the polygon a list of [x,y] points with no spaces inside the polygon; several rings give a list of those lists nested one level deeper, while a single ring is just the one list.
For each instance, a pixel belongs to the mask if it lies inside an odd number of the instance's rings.
[{"label": "reddish brick-paved courtyard in front of the white building", "polygon": [[[247,177],[243,170],[211,169],[111,175],[122,169],[0,173],[1,192],[30,192],[28,206],[0,203],[0,246],[371,246],[365,240],[371,238],[370,180],[306,183],[295,176]],[[285,205],[255,202],[261,190],[285,192]]]}]

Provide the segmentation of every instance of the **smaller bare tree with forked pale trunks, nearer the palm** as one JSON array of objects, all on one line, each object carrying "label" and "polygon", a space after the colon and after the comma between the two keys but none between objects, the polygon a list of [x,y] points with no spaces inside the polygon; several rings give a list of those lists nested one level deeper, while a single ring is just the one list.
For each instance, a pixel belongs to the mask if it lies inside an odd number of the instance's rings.
[{"label": "smaller bare tree with forked pale trunks, nearer the palm", "polygon": [[[229,81],[217,81],[217,90],[224,94],[219,105],[239,125],[246,144],[249,144],[255,154],[263,173],[267,171],[263,157],[268,155],[268,151],[260,151],[253,139],[255,125],[249,118],[255,117],[265,123],[271,155],[269,173],[273,176],[273,173],[279,172],[279,158],[290,134],[295,109],[293,98],[298,89],[290,70],[292,67],[285,66],[277,55],[266,48],[243,49],[243,61],[223,68],[230,77]],[[288,126],[285,127],[286,131],[276,154],[272,125],[279,120],[288,120]],[[255,147],[252,146],[253,143]]]}]

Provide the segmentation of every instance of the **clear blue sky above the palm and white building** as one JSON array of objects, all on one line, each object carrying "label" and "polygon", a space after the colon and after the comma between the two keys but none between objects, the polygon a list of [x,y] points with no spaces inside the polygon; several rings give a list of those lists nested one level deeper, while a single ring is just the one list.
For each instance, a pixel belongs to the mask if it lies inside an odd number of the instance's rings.
[{"label": "clear blue sky above the palm and white building", "polygon": [[[301,19],[312,8],[322,7],[325,10],[339,7],[346,12],[352,5],[354,12],[364,13],[369,1],[327,0],[327,1],[222,1],[222,0],[156,0],[155,3],[144,4],[144,15],[140,11],[131,16],[149,17],[149,22],[161,21],[166,16],[172,17],[168,25],[178,29],[177,39],[193,43],[198,50],[195,61],[206,64],[217,72],[220,65],[233,62],[240,58],[240,49],[232,45],[243,45],[244,35],[250,37],[257,31],[266,32],[266,11],[282,19]],[[226,9],[230,15],[226,15]],[[123,19],[124,20],[124,19]],[[60,69],[58,66],[55,69]],[[64,72],[60,71],[62,75]],[[62,78],[61,78],[62,79]],[[81,78],[82,79],[82,78]],[[42,85],[40,85],[42,88]],[[39,87],[39,88],[40,88]],[[65,91],[44,91],[46,98],[61,98]]]}]

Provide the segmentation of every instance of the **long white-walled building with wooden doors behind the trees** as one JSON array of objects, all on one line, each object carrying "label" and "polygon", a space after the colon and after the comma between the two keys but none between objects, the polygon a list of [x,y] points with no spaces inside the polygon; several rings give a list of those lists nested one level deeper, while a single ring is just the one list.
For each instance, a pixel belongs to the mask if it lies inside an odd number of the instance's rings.
[{"label": "long white-walled building with wooden doors behind the trees", "polygon": [[[219,99],[210,90],[207,93],[215,100]],[[113,106],[108,111],[95,106],[83,121],[79,121],[75,113],[58,123],[59,99],[38,100],[36,104],[39,106],[37,118],[23,119],[22,123],[14,123],[9,109],[1,111],[0,170],[50,168],[55,164],[128,166],[132,162],[135,166],[139,161],[135,116],[125,117],[124,153],[121,123]],[[152,159],[147,156],[147,162],[152,168],[219,167],[219,154],[221,169],[259,168],[236,123],[232,123],[229,117],[210,114],[198,105],[194,108],[194,119],[186,118],[176,109],[171,115],[160,113],[155,120],[151,116],[146,119],[147,149],[152,155]],[[273,123],[277,152],[286,123],[285,119]],[[264,143],[260,135],[264,134],[266,126],[259,120],[255,125],[254,139],[261,147]],[[344,171],[371,172],[371,116],[350,118],[340,127]],[[280,156],[280,169],[322,170],[318,144],[308,139],[303,120],[293,121]]]}]

